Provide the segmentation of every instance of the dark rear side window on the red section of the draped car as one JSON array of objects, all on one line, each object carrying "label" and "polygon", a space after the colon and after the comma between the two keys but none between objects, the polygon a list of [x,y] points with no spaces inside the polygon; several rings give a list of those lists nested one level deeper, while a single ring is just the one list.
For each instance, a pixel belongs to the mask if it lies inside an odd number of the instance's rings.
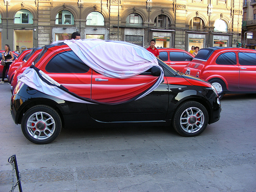
[{"label": "dark rear side window on the red section of the draped car", "polygon": [[55,55],[46,66],[49,73],[87,73],[89,69],[73,51]]}]

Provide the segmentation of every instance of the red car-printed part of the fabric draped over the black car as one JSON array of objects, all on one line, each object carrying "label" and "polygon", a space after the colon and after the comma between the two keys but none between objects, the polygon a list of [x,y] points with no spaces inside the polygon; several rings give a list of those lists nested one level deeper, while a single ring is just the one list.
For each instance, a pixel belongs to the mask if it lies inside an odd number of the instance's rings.
[{"label": "red car-printed part of the fabric draped over the black car", "polygon": [[[67,45],[50,47],[35,63],[35,67],[80,97],[99,102],[122,102],[134,98],[152,87],[157,77],[137,75],[127,79],[103,76],[90,69],[87,73],[51,73],[47,71],[48,62],[62,52],[71,51]],[[111,89],[111,91],[110,91]]]}]

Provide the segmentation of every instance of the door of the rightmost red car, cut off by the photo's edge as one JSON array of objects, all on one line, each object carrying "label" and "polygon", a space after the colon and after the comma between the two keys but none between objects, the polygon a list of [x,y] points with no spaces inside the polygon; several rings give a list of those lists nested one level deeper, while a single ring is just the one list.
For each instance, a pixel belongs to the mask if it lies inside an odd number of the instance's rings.
[{"label": "door of the rightmost red car, cut off by the photo's edge", "polygon": [[239,88],[256,90],[256,52],[239,52]]}]

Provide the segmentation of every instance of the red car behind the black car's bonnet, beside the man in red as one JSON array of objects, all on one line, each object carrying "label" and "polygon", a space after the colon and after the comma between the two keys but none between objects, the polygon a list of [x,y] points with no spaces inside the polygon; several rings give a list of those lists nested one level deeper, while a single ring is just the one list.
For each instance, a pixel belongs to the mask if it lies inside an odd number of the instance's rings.
[{"label": "red car behind the black car's bonnet, beside the man in red", "polygon": [[174,48],[158,48],[159,58],[176,71],[182,71],[194,58],[187,51]]}]

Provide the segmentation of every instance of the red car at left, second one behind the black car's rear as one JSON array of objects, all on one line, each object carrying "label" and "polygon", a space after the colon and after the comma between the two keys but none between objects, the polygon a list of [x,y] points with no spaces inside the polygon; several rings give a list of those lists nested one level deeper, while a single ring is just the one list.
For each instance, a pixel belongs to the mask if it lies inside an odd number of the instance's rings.
[{"label": "red car at left, second one behind the black car's rear", "polygon": [[32,49],[22,50],[22,52],[18,55],[18,57],[15,60],[13,60],[12,64],[10,65],[8,74],[7,74],[9,83],[12,82],[12,78],[13,78],[15,70],[18,69],[18,67],[22,64],[22,61],[25,60],[26,56],[31,52],[31,50]]}]

